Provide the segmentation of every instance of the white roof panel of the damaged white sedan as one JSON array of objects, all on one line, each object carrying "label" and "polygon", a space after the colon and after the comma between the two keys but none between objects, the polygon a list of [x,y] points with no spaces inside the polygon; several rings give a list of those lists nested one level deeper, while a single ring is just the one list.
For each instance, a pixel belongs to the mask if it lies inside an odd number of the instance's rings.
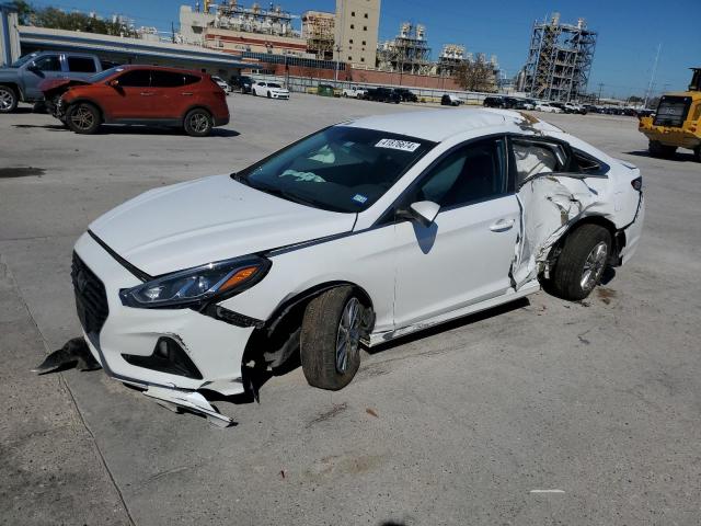
[{"label": "white roof panel of the damaged white sedan", "polygon": [[522,114],[508,110],[463,108],[376,115],[344,124],[440,142],[480,128],[503,126],[507,132],[507,128],[517,126],[525,118]]}]

